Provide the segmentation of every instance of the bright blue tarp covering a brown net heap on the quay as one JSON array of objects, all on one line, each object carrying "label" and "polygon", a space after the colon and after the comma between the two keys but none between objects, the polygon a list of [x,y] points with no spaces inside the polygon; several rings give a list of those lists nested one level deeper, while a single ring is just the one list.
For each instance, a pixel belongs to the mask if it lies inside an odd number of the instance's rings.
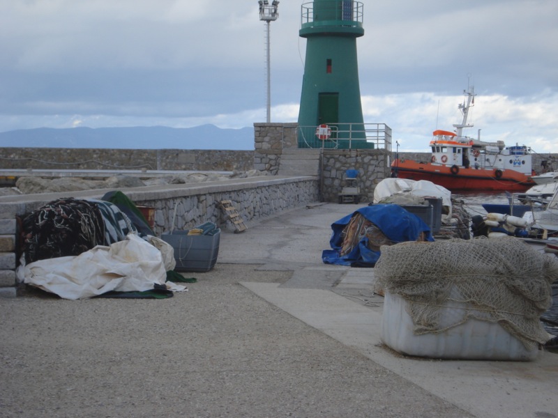
[{"label": "bright blue tarp covering a brown net heap on the quay", "polygon": [[430,227],[421,218],[401,206],[393,203],[365,206],[331,224],[333,233],[329,244],[332,249],[324,249],[322,252],[324,263],[373,267],[378,261],[380,252],[368,248],[368,238],[366,236],[363,236],[359,245],[356,245],[348,254],[345,254],[345,256],[340,254],[343,245],[342,232],[357,213],[375,224],[393,242],[416,241],[423,232],[426,240],[434,240],[432,233],[430,233]]}]

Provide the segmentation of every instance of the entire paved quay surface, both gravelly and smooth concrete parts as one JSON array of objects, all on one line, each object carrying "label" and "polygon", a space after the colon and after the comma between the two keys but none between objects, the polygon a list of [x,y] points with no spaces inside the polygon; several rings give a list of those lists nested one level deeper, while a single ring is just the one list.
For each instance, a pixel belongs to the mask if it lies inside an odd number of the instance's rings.
[{"label": "entire paved quay surface, both gravelly and smooth concrete parts", "polygon": [[382,346],[373,269],[324,265],[315,205],[235,234],[187,293],[0,300],[0,417],[558,417],[558,355],[404,357]]}]

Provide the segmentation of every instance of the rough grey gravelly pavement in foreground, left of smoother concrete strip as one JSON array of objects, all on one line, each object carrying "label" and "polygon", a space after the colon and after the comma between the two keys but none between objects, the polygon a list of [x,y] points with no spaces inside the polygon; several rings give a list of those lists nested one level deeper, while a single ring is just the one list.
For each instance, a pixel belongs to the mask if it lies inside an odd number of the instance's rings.
[{"label": "rough grey gravelly pavement in foreground, left of smoother concrete strip", "polygon": [[0,300],[0,417],[471,417],[260,299],[222,264],[164,300]]}]

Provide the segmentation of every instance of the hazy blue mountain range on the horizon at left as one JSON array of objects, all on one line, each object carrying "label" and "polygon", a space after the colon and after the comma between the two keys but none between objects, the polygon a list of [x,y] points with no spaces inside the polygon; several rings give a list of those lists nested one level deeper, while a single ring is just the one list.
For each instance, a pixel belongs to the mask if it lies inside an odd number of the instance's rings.
[{"label": "hazy blue mountain range on the horizon at left", "polygon": [[121,148],[253,150],[254,128],[196,127],[71,127],[0,132],[0,148]]}]

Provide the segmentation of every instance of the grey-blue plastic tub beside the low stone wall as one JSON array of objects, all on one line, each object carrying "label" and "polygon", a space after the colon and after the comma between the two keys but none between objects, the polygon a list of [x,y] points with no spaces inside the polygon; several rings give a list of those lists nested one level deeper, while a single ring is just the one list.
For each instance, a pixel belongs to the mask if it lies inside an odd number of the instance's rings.
[{"label": "grey-blue plastic tub beside the low stone wall", "polygon": [[208,272],[217,262],[220,229],[213,235],[188,235],[189,230],[161,234],[174,248],[177,272]]}]

